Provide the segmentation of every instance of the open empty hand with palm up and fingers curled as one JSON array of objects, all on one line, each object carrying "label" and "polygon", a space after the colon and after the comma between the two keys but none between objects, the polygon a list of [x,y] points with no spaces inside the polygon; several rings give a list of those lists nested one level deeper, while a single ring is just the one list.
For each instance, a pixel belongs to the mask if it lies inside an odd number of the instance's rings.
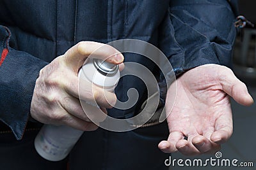
[{"label": "open empty hand with palm up and fingers curled", "polygon": [[166,97],[170,135],[159,148],[166,153],[179,150],[184,155],[216,152],[230,138],[233,125],[229,96],[244,106],[253,103],[246,85],[230,69],[216,64],[196,67],[177,79],[173,110],[168,106],[171,95]]}]

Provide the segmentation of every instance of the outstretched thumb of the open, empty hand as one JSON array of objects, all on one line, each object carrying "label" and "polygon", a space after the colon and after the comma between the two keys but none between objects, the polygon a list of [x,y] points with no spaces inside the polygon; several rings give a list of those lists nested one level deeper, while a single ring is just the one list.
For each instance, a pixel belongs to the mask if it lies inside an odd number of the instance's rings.
[{"label": "outstretched thumb of the open, empty hand", "polygon": [[237,103],[244,106],[250,106],[253,104],[252,96],[250,96],[246,85],[240,81],[231,69],[221,66],[221,70],[218,71],[220,75],[221,86],[223,91],[231,96]]}]

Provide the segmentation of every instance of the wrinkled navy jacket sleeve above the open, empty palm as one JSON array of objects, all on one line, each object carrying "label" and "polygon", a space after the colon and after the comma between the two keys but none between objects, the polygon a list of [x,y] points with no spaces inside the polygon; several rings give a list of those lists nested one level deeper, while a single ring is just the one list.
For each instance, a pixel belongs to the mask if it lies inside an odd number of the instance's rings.
[{"label": "wrinkled navy jacket sleeve above the open, empty palm", "polygon": [[[236,1],[172,0],[170,19],[179,55],[170,57],[176,74],[203,64],[231,66],[236,38]],[[236,12],[236,11],[235,11]]]}]

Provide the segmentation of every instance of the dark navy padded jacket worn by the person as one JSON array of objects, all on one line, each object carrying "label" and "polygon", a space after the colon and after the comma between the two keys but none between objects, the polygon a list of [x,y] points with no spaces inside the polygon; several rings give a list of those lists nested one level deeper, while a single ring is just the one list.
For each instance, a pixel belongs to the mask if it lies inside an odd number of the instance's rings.
[{"label": "dark navy padded jacket worn by the person", "polygon": [[[230,66],[234,9],[236,1],[226,0],[1,0],[0,120],[21,139],[40,69],[79,41],[148,41],[177,74],[202,64]],[[142,57],[127,55],[125,61],[154,69]],[[145,91],[134,80],[128,76],[118,83],[121,101],[131,87]],[[134,110],[110,113],[122,118]]]}]

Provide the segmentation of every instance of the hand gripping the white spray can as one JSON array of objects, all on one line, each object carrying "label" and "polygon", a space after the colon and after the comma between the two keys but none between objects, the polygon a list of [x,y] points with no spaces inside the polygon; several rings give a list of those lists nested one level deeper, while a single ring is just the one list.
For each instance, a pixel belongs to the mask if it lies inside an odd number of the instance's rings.
[{"label": "hand gripping the white spray can", "polygon": [[102,43],[83,41],[73,46],[41,69],[31,101],[31,117],[44,124],[69,125],[82,131],[97,129],[86,117],[79,97],[84,101],[95,99],[106,113],[106,108],[115,104],[116,96],[112,92],[103,92],[97,86],[92,87],[92,83],[88,82],[82,82],[84,91],[78,95],[77,74],[92,52],[93,57],[107,59],[113,64],[120,64],[124,60],[124,56],[115,48]]}]

